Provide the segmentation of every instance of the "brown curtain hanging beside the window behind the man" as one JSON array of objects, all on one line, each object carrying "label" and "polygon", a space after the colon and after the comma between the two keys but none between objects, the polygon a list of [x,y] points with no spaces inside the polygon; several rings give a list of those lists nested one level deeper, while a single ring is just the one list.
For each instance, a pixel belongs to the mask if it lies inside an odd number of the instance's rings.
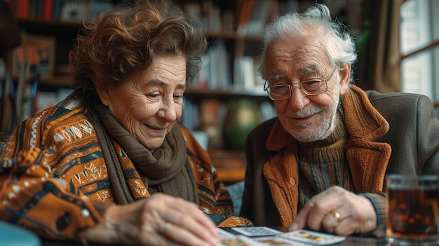
[{"label": "brown curtain hanging beside the window behind the man", "polygon": [[401,90],[400,4],[404,0],[365,0],[370,40],[358,57],[358,86],[388,93]]}]

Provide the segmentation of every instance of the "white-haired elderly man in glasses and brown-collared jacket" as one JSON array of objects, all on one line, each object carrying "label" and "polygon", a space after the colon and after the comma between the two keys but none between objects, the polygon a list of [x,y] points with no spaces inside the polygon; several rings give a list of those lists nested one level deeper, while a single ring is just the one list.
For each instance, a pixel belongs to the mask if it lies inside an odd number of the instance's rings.
[{"label": "white-haired elderly man in glasses and brown-collared jacket", "polygon": [[257,226],[384,235],[389,173],[439,173],[428,97],[351,84],[355,46],[322,4],[265,30],[260,70],[278,117],[245,146],[241,215]]}]

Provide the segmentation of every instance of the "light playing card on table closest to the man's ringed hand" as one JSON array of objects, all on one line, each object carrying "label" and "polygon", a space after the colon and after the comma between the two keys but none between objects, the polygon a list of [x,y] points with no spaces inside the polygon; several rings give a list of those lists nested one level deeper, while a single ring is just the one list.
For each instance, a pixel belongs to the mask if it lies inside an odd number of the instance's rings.
[{"label": "light playing card on table closest to the man's ringed hand", "polygon": [[332,235],[309,230],[298,230],[282,233],[281,235],[278,235],[278,237],[295,240],[298,242],[311,243],[313,245],[332,245],[337,242],[342,242],[346,239],[346,237],[341,235]]}]

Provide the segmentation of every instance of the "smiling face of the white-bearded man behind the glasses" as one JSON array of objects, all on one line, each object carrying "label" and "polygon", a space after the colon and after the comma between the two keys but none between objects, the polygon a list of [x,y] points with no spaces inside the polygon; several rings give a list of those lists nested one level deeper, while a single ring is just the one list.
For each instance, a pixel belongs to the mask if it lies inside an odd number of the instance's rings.
[{"label": "smiling face of the white-bearded man behind the glasses", "polygon": [[[337,105],[348,86],[350,67],[331,65],[320,39],[313,35],[274,41],[266,50],[266,64],[267,77],[282,78],[276,84],[297,83],[290,98],[274,101],[283,128],[299,142],[327,138],[335,129]],[[313,78],[328,78],[325,93],[310,96],[301,90],[298,83]],[[274,85],[271,81],[268,86]]]}]

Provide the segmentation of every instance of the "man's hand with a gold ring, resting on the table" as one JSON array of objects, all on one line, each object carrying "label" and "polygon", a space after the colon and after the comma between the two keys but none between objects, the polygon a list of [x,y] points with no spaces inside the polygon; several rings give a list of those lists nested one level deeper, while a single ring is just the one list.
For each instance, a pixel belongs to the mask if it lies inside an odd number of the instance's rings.
[{"label": "man's hand with a gold ring, resting on the table", "polygon": [[292,221],[289,231],[306,226],[337,235],[367,233],[377,227],[377,214],[369,199],[332,186],[306,203]]}]

